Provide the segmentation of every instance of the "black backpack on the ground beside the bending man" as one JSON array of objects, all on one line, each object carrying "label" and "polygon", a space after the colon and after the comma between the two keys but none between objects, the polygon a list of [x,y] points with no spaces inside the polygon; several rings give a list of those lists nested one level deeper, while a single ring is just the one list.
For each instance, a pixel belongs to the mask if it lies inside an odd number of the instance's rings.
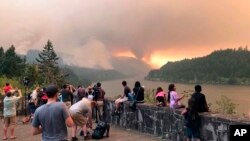
[{"label": "black backpack on the ground beside the bending man", "polygon": [[104,133],[106,132],[106,137],[109,136],[109,128],[110,125],[107,122],[100,121],[96,128],[94,129],[94,132],[92,134],[93,139],[101,139],[104,136]]}]

